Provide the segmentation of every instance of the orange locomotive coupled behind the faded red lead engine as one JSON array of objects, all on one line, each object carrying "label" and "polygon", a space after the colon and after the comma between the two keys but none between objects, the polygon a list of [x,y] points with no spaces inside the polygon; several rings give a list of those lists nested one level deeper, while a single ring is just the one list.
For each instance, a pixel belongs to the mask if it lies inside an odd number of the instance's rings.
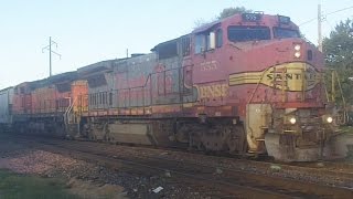
[{"label": "orange locomotive coupled behind the faded red lead engine", "polygon": [[11,100],[13,129],[23,134],[65,136],[68,132],[65,113],[73,107],[72,100],[87,94],[87,83],[84,82],[85,92],[79,90],[79,82],[76,72],[68,72],[14,86]]}]

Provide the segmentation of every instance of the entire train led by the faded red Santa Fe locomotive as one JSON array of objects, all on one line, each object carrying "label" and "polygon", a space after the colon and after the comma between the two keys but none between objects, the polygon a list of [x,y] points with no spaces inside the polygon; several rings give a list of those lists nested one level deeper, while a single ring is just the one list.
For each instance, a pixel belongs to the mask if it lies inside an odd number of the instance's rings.
[{"label": "entire train led by the faded red Santa Fe locomotive", "polygon": [[325,102],[324,57],[290,18],[235,14],[151,51],[3,90],[0,123],[284,161],[345,156]]}]

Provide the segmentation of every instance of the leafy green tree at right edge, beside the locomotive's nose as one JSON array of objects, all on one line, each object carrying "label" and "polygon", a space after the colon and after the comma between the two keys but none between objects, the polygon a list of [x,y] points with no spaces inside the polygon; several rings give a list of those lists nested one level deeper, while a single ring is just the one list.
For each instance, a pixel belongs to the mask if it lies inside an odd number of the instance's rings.
[{"label": "leafy green tree at right edge, beside the locomotive's nose", "polygon": [[[325,82],[330,91],[331,87],[331,71],[335,70],[339,74],[339,81],[342,86],[343,95],[347,104],[353,104],[353,21],[347,19],[341,21],[335,29],[330,33],[330,38],[323,40],[323,53],[325,56]],[[334,90],[340,93],[338,82]],[[341,103],[341,97],[338,95],[336,101]]]}]

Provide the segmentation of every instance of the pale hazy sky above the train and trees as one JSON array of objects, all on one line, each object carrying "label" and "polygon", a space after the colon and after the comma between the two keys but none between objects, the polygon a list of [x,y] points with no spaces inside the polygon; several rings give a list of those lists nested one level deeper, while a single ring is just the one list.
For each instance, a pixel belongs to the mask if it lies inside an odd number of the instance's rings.
[{"label": "pale hazy sky above the train and trees", "polygon": [[[156,44],[192,31],[224,8],[244,6],[288,15],[297,24],[317,18],[319,0],[0,0],[0,88],[49,75],[49,36],[57,42],[53,73],[103,60],[148,53]],[[323,14],[353,7],[353,0],[321,0]],[[327,17],[323,34],[353,18],[353,9]],[[301,25],[317,43],[317,21]]]}]

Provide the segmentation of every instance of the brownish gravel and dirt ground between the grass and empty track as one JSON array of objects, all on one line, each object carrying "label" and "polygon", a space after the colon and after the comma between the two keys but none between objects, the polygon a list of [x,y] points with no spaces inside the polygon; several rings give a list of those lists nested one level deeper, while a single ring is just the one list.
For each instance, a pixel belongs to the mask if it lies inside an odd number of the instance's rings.
[{"label": "brownish gravel and dirt ground between the grass and empty track", "polygon": [[68,192],[81,198],[127,198],[124,187],[85,177],[85,174],[92,174],[97,178],[97,170],[103,168],[57,154],[31,149],[4,139],[0,140],[0,169],[64,179],[67,181]]}]

